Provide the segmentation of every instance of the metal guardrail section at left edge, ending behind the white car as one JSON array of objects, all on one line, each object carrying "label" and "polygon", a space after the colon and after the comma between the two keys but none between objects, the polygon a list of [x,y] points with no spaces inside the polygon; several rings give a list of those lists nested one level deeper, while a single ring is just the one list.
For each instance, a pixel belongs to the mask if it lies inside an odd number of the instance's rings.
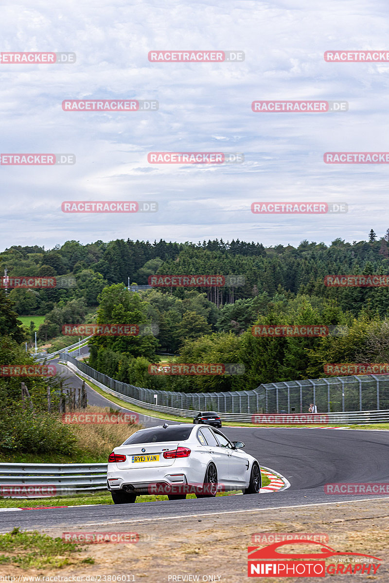
[{"label": "metal guardrail section at left edge, ending behind the white car", "polygon": [[0,487],[10,486],[54,486],[62,495],[106,490],[107,463],[0,463]]}]

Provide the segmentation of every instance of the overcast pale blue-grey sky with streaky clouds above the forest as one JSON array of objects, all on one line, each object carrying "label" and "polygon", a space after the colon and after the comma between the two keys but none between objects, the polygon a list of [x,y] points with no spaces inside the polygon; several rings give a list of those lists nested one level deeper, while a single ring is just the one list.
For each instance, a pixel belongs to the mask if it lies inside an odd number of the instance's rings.
[{"label": "overcast pale blue-grey sky with streaky clouds above the forest", "polygon": [[[331,166],[327,151],[389,151],[386,2],[1,2],[1,51],[72,51],[75,64],[0,64],[1,153],[73,153],[73,166],[0,166],[10,245],[379,237],[388,164]],[[148,61],[151,50],[239,50],[244,62]],[[63,111],[65,99],[154,99],[153,112]],[[346,113],[253,113],[254,100],[346,100]],[[243,164],[149,164],[149,152],[243,152]],[[156,201],[157,213],[65,214],[61,202]],[[253,215],[251,203],[344,202],[341,215]]]}]

